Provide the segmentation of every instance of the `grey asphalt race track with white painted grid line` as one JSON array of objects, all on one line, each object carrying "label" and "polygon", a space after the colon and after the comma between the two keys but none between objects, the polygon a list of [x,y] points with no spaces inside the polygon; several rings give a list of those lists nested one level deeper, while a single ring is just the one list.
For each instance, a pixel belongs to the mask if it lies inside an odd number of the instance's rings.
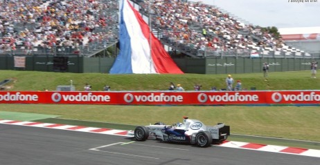
[{"label": "grey asphalt race track with white painted grid line", "polygon": [[0,164],[318,164],[319,157],[0,124]]}]

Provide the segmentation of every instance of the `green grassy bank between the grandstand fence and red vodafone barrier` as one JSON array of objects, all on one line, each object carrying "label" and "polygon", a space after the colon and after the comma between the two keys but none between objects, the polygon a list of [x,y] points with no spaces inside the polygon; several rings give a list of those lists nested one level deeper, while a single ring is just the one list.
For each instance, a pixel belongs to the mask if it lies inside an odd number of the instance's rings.
[{"label": "green grassy bank between the grandstand fence and red vodafone barrier", "polygon": [[[226,88],[227,75],[109,75],[103,73],[68,73],[68,72],[35,72],[0,70],[0,81],[12,79],[3,86],[4,90],[55,90],[57,86],[75,86],[75,90],[83,90],[86,83],[92,91],[103,90],[103,86],[111,86],[111,90],[168,90],[170,82],[181,84],[185,90],[193,90],[195,84],[202,85],[201,90]],[[235,74],[233,79],[242,81],[242,88],[250,90],[319,90],[320,80],[310,78],[310,71],[269,72],[264,79],[263,73]]]}]

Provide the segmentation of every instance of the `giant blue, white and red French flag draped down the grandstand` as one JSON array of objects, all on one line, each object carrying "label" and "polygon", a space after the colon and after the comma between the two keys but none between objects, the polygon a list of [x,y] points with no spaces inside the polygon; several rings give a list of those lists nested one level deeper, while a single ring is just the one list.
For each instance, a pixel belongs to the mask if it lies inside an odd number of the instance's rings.
[{"label": "giant blue, white and red French flag draped down the grandstand", "polygon": [[164,50],[159,39],[150,32],[140,13],[127,0],[122,1],[121,7],[120,52],[109,73],[184,73]]}]

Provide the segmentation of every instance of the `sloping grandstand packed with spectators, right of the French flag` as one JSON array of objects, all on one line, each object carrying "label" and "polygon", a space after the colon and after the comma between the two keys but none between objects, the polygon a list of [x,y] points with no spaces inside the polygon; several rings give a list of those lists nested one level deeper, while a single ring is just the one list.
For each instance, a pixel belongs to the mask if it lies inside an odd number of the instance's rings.
[{"label": "sloping grandstand packed with spectators, right of the French flag", "polygon": [[[149,1],[134,2],[143,14],[149,13]],[[166,45],[197,57],[312,57],[303,50],[289,48],[259,26],[245,24],[222,11],[199,2],[154,0],[150,10],[152,28],[161,33]],[[204,29],[206,36],[202,34]]]}]

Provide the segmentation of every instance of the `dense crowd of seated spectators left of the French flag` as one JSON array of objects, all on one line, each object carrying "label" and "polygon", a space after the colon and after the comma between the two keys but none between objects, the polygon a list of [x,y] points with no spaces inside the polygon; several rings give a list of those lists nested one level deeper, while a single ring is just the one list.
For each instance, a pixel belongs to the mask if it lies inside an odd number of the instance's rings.
[{"label": "dense crowd of seated spectators left of the French flag", "polygon": [[79,53],[116,39],[117,22],[117,0],[0,0],[0,54]]}]

